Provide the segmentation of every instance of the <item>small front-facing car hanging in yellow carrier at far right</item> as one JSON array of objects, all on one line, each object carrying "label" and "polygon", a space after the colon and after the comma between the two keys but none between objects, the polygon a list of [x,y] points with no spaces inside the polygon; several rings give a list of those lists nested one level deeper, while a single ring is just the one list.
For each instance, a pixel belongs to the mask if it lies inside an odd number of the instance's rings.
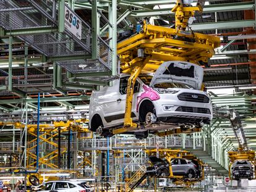
[{"label": "small front-facing car hanging in yellow carrier at far right", "polygon": [[239,180],[241,178],[251,179],[254,175],[252,164],[250,161],[237,160],[233,163],[232,167],[233,179]]}]

